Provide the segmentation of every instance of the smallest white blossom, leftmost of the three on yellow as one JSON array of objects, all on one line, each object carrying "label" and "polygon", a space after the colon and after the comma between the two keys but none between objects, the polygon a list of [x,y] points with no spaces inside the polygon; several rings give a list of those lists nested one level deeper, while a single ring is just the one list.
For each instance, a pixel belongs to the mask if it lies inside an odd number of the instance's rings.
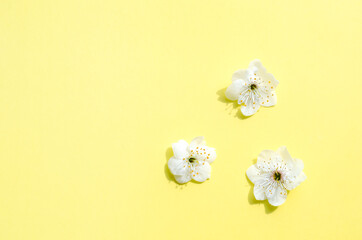
[{"label": "smallest white blossom, leftmost of the three on yellow", "polygon": [[191,179],[204,182],[210,178],[211,166],[216,159],[214,148],[205,146],[204,137],[196,137],[190,145],[185,140],[172,144],[174,156],[168,161],[168,168],[178,183]]}]

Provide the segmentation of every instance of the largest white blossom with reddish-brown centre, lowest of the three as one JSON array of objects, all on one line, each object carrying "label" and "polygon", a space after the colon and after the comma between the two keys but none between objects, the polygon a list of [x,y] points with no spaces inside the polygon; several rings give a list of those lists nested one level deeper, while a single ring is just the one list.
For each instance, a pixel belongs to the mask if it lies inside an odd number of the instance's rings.
[{"label": "largest white blossom with reddish-brown centre, lowest of the three", "polygon": [[286,147],[280,147],[277,152],[262,151],[246,175],[254,183],[257,200],[268,199],[271,205],[279,206],[287,199],[287,190],[294,189],[307,178],[303,168],[302,160],[293,159]]}]

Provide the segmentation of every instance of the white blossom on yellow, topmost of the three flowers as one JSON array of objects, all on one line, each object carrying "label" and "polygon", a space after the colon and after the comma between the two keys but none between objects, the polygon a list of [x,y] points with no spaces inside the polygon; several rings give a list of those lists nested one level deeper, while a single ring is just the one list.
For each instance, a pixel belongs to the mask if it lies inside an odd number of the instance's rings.
[{"label": "white blossom on yellow, topmost of the three flowers", "polygon": [[248,69],[233,74],[225,95],[232,101],[238,100],[244,116],[251,116],[260,106],[270,107],[277,103],[275,89],[278,83],[259,60],[254,60]]}]

